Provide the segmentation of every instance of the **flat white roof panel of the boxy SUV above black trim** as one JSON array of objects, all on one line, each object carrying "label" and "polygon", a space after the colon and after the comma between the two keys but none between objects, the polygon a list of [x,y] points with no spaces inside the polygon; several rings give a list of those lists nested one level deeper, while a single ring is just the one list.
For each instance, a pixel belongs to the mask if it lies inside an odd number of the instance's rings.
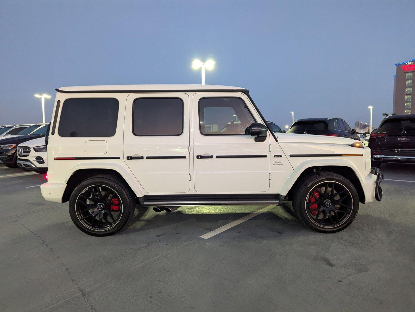
[{"label": "flat white roof panel of the boxy SUV above black trim", "polygon": [[61,87],[62,91],[129,91],[129,90],[243,90],[241,87],[218,85],[107,85]]}]

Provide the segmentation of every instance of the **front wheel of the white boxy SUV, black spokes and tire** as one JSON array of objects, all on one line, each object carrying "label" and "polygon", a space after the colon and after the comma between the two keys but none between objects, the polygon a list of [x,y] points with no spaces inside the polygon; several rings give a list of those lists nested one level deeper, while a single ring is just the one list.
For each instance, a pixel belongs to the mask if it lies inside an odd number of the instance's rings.
[{"label": "front wheel of the white boxy SUV, black spokes and tire", "polygon": [[359,211],[356,188],[348,179],[333,172],[315,172],[304,177],[293,191],[292,202],[298,220],[322,233],[344,230]]}]

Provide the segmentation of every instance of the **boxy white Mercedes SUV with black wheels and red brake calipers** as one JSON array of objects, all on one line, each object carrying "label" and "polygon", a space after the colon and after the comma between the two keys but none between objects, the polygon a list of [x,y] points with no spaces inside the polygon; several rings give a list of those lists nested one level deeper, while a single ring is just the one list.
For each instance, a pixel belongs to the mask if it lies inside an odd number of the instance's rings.
[{"label": "boxy white Mercedes SUV with black wheels and red brake calipers", "polygon": [[56,89],[46,138],[48,201],[89,235],[121,230],[135,205],[279,205],[337,232],[378,201],[381,172],[350,138],[275,134],[247,89],[113,85]]}]

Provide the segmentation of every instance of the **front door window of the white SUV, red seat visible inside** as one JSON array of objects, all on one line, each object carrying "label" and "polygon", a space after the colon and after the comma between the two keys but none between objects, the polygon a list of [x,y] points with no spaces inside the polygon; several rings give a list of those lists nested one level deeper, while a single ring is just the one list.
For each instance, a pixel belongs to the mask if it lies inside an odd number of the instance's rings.
[{"label": "front door window of the white SUV, red seat visible inside", "polygon": [[255,122],[239,97],[205,97],[199,101],[200,133],[203,135],[244,135]]}]

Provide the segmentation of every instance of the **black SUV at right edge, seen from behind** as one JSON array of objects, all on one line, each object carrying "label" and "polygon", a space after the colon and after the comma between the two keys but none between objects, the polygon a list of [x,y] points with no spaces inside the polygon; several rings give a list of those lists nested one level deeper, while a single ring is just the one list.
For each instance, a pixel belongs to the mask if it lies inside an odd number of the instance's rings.
[{"label": "black SUV at right edge, seen from behind", "polygon": [[388,116],[369,138],[372,166],[383,162],[415,163],[415,114]]}]

